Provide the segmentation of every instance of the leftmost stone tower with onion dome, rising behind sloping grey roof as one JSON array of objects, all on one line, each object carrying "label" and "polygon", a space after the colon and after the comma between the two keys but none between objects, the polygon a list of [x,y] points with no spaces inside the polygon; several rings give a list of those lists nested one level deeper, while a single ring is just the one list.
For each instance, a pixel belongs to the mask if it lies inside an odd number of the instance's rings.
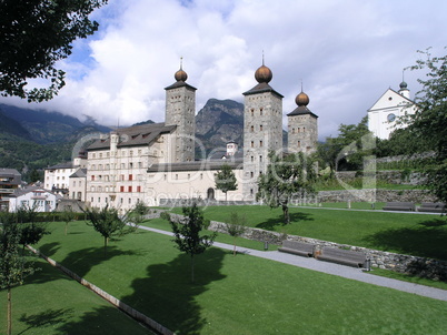
[{"label": "leftmost stone tower with onion dome, rising behind sloping grey roof", "polygon": [[196,88],[186,83],[188,74],[180,70],[175,74],[176,82],[166,90],[166,125],[177,125],[170,143],[169,161],[187,162],[195,160],[196,132]]}]

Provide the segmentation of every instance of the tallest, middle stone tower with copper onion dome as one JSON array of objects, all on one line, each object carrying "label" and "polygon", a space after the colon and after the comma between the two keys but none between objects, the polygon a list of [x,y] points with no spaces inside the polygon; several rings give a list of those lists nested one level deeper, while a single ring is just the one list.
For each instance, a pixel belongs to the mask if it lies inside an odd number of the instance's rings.
[{"label": "tallest, middle stone tower with copper onion dome", "polygon": [[282,95],[269,82],[272,73],[264,64],[256,70],[258,84],[244,93],[244,199],[255,200],[258,176],[267,170],[270,151],[282,150]]}]

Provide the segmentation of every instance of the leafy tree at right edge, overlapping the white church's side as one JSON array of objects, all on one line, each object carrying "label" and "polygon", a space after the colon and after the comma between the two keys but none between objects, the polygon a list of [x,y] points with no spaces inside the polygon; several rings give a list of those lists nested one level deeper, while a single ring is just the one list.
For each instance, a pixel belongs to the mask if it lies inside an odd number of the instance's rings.
[{"label": "leafy tree at right edge, overlapping the white church's side", "polygon": [[418,60],[413,70],[428,70],[428,79],[418,80],[423,90],[415,100],[418,109],[410,115],[409,129],[416,141],[424,140],[435,151],[434,164],[425,170],[425,185],[447,202],[447,55],[431,57],[429,49],[419,52],[426,59]]}]

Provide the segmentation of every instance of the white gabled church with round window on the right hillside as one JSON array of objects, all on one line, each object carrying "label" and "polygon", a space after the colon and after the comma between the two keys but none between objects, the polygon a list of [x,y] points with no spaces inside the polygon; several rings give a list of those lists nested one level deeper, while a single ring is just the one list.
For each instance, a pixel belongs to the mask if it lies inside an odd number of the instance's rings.
[{"label": "white gabled church with round window on the right hillside", "polygon": [[368,110],[368,129],[376,138],[387,140],[396,129],[406,126],[397,121],[400,116],[416,112],[416,105],[409,97],[406,83],[403,82],[399,92],[388,89]]}]

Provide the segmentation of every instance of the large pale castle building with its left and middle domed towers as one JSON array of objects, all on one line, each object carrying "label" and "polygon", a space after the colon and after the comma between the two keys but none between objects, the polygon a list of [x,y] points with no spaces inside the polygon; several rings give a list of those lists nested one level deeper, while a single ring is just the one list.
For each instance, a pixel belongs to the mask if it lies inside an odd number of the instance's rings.
[{"label": "large pale castle building with its left and middle domed towers", "polygon": [[[244,154],[239,153],[237,143],[230,142],[227,153],[200,161],[195,161],[196,88],[186,82],[188,75],[181,64],[173,84],[165,88],[165,123],[117,129],[87,149],[86,202],[89,205],[110,205],[126,211],[139,201],[150,206],[170,200],[224,201],[226,194],[217,190],[215,181],[224,164],[232,169],[238,183],[238,189],[228,193],[229,199],[256,200],[258,176],[267,170],[269,152],[282,152],[284,97],[269,85],[271,70],[262,61],[255,72],[258,84],[242,93]],[[302,105],[306,110],[302,115],[316,120],[307,103],[308,100]],[[316,121],[315,124],[304,120],[294,122],[308,126],[316,139]],[[314,145],[316,140],[311,138],[305,148]],[[82,196],[79,192],[72,195],[79,199]]]}]

